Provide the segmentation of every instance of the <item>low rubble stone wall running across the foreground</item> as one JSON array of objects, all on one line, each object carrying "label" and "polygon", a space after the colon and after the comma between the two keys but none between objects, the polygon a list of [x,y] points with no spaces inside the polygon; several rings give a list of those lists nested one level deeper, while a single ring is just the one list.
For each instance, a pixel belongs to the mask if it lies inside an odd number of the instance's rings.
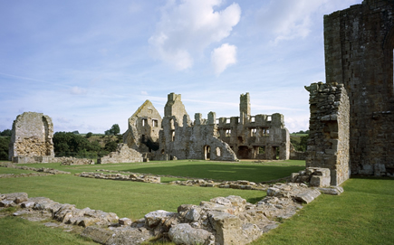
[{"label": "low rubble stone wall running across the foreground", "polygon": [[[183,204],[178,212],[158,210],[143,219],[119,219],[113,212],[72,204],[56,203],[45,197],[28,198],[27,193],[0,194],[0,209],[20,207],[14,212],[47,226],[83,227],[82,236],[101,244],[141,244],[147,240],[171,240],[176,244],[247,244],[276,228],[282,219],[292,217],[321,193],[306,184],[272,184],[267,196],[256,204],[230,195],[216,197],[199,205]],[[81,228],[79,228],[81,229]]]}]

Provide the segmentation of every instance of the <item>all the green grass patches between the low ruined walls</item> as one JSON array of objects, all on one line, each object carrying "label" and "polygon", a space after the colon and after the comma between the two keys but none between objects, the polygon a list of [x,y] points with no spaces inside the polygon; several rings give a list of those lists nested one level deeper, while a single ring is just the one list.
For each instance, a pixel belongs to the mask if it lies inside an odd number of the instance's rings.
[{"label": "all the green grass patches between the low ruined walls", "polygon": [[[172,161],[119,165],[29,166],[53,167],[72,173],[109,169],[259,182],[270,179],[271,175],[271,179],[289,175],[293,168],[303,168],[304,164],[301,161],[264,164]],[[296,171],[298,170],[293,172]],[[305,205],[293,218],[284,221],[279,228],[265,234],[253,244],[393,244],[393,184],[394,180],[387,178],[348,180],[343,184],[345,193],[340,196],[321,195],[316,201]],[[235,194],[242,196],[249,203],[256,203],[265,195],[259,191],[121,182],[81,178],[69,174],[0,179],[0,193],[14,192],[29,193],[32,197],[45,196],[59,203],[76,204],[78,208],[90,207],[105,212],[116,212],[120,217],[129,217],[133,220],[158,209],[175,212],[180,204],[198,204],[216,196]],[[64,237],[59,240],[58,237],[62,236]],[[41,237],[46,241],[41,242]],[[0,219],[0,244],[48,243],[90,242],[78,239],[73,234],[58,233],[56,229],[20,221],[14,217]]]}]

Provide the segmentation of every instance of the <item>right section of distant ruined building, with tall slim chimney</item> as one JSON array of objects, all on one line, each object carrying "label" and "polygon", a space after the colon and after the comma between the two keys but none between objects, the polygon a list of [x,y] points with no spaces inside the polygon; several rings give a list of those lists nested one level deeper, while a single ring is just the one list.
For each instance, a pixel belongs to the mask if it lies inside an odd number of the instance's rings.
[{"label": "right section of distant ruined building, with tall slim chimney", "polygon": [[219,118],[219,137],[241,159],[279,159],[290,157],[290,134],[283,115],[251,116],[249,93],[240,96],[240,117]]}]

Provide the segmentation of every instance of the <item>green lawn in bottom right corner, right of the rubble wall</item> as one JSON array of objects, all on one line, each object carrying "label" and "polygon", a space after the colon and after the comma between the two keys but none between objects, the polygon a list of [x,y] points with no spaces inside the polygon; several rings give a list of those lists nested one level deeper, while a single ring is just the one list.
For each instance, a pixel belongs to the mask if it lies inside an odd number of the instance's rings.
[{"label": "green lawn in bottom right corner, right of the rubble wall", "polygon": [[343,188],[252,244],[394,244],[394,180],[353,178]]}]

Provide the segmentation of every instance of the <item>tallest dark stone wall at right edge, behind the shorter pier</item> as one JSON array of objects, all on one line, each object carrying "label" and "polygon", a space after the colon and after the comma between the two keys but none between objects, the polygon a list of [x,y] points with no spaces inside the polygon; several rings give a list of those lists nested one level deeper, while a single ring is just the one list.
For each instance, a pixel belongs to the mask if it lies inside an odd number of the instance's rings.
[{"label": "tallest dark stone wall at right edge, behind the shorter pier", "polygon": [[324,16],[326,82],[348,91],[353,174],[394,173],[394,1]]}]

